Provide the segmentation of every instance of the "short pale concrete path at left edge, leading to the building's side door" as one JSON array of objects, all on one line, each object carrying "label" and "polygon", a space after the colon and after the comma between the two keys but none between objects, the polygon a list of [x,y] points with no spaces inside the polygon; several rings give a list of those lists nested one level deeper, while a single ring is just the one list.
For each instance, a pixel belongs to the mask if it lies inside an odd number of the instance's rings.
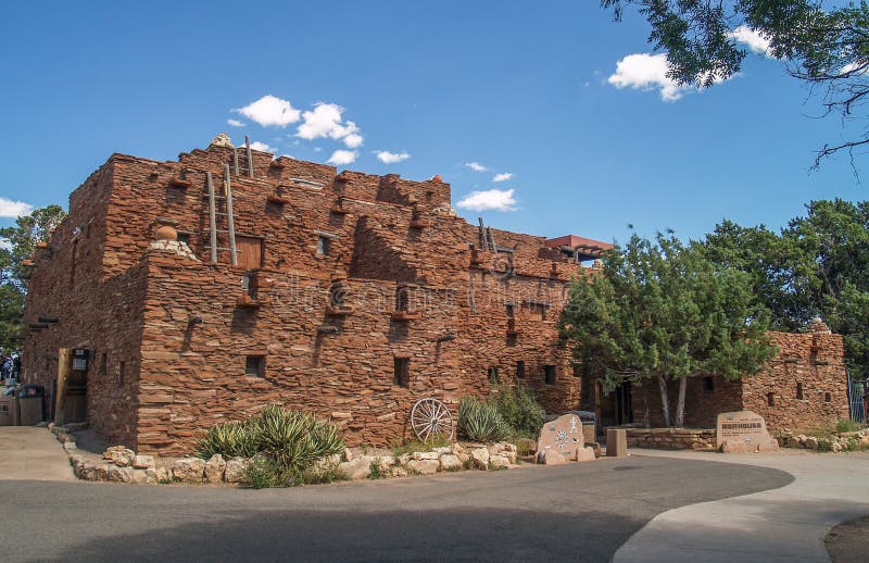
[{"label": "short pale concrete path at left edge, leading to the building's side door", "polygon": [[76,480],[70,459],[47,428],[0,426],[0,480]]}]

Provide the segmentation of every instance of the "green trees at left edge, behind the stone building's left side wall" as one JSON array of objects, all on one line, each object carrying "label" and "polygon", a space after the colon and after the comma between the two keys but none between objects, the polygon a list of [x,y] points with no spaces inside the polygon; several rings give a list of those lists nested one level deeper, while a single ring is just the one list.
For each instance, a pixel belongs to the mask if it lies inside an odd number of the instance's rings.
[{"label": "green trees at left edge, behind the stone building's left side wall", "polygon": [[37,242],[48,240],[65,216],[60,205],[49,205],[0,228],[0,352],[18,350],[23,339],[27,268],[22,261],[33,257]]}]

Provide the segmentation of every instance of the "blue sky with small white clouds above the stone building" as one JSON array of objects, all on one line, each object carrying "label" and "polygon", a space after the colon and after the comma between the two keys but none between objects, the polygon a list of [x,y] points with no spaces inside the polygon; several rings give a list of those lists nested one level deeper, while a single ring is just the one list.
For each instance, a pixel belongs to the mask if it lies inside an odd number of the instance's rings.
[{"label": "blue sky with small white clouds above the stone building", "polygon": [[222,132],[317,162],[355,153],[339,168],[440,174],[454,204],[502,209],[459,207],[469,221],[552,237],[697,238],[867,199],[846,158],[808,173],[855,132],[813,118],[780,63],[752,55],[703,92],[632,87],[654,82],[654,58],[626,59],[651,51],[647,25],[596,0],[122,4],[5,7],[0,225],[66,205],[112,152],[171,160]]}]

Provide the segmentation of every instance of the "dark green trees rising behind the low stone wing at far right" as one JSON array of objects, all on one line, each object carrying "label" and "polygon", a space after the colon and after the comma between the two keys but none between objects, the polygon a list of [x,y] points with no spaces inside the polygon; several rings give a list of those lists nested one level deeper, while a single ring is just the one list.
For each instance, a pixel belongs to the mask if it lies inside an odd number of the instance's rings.
[{"label": "dark green trees rising behind the low stone wing at far right", "polygon": [[811,201],[778,234],[725,222],[696,246],[751,277],[772,328],[802,330],[819,315],[843,336],[852,376],[869,375],[869,202]]}]

